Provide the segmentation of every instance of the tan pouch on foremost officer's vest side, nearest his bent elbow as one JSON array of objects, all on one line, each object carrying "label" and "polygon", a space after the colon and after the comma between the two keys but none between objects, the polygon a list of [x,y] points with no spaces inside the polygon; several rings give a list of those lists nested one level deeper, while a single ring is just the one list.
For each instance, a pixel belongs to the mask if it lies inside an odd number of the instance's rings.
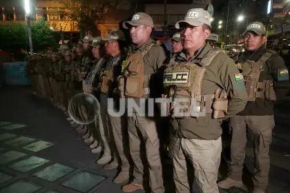
[{"label": "tan pouch on foremost officer's vest side, nearest his bent elbow", "polygon": [[213,119],[224,118],[225,113],[228,111],[228,99],[226,91],[218,88],[215,91],[215,98],[213,99]]}]

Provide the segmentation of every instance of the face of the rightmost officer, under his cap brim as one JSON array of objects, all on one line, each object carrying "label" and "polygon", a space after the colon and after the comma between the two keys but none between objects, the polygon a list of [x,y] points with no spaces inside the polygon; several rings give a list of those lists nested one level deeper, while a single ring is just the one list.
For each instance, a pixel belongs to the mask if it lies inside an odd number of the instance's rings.
[{"label": "face of the rightmost officer, under his cap brim", "polygon": [[254,51],[263,45],[266,41],[266,36],[262,37],[255,32],[247,32],[244,34],[244,48],[248,51]]}]

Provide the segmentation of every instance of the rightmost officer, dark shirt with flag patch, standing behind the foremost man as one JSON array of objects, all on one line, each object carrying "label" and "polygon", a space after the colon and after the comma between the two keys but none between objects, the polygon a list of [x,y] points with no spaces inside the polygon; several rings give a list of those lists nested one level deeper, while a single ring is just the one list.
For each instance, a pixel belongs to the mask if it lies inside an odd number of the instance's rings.
[{"label": "rightmost officer, dark shirt with flag patch, standing behind the foremost man", "polygon": [[268,185],[269,148],[275,125],[273,105],[287,94],[289,74],[284,60],[275,51],[264,48],[265,34],[266,28],[260,22],[250,23],[243,33],[246,52],[240,54],[237,66],[245,80],[248,103],[242,112],[230,119],[231,160],[228,177],[218,183],[222,188],[243,185],[247,132],[254,144],[253,192],[262,193]]}]

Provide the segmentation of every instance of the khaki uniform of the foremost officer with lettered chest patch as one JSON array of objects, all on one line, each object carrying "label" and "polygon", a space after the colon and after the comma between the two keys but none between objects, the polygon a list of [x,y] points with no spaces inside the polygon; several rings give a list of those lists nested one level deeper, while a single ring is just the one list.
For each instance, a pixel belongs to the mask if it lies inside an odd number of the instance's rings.
[{"label": "khaki uniform of the foremost officer with lettered chest patch", "polygon": [[[184,73],[185,68],[180,65],[182,62],[195,70],[189,73],[185,82],[180,83],[173,77],[169,78],[169,75],[174,71],[170,69]],[[203,72],[203,77],[200,77]],[[191,189],[187,178],[186,160],[194,167],[194,176],[201,192],[219,192],[216,181],[222,152],[220,125],[222,119],[237,114],[247,103],[244,84],[235,81],[235,74],[239,74],[239,71],[235,68],[233,60],[224,52],[213,50],[211,45],[206,43],[190,60],[187,60],[185,54],[181,52],[175,58],[175,63],[166,65],[164,73],[164,85],[177,85],[177,91],[173,92],[177,98],[197,97],[193,98],[196,101],[194,108],[185,109],[190,109],[188,118],[170,119],[172,135],[170,153],[173,158],[176,192],[188,193]],[[189,96],[186,95],[186,87],[182,89],[188,81],[195,81],[191,82],[192,90]],[[228,101],[227,98],[231,100]]]}]

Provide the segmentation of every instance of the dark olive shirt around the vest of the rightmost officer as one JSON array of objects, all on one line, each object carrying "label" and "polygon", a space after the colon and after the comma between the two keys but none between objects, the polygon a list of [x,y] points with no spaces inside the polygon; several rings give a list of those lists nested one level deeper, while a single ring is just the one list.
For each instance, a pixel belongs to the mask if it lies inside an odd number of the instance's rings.
[{"label": "dark olive shirt around the vest of the rightmost officer", "polygon": [[[244,63],[247,60],[250,61],[258,61],[260,57],[266,52],[266,49],[262,45],[255,52],[244,52],[241,54],[238,62],[236,63]],[[289,80],[286,81],[278,81],[276,77],[278,76],[279,69],[286,68],[284,65],[284,60],[278,55],[273,54],[264,65],[264,70],[260,72],[259,81],[262,82],[264,80],[273,79],[274,82],[274,90],[276,91],[277,101],[282,99],[285,94],[287,94],[289,90]],[[253,102],[248,102],[246,108],[238,115],[272,115],[273,114],[273,105],[277,101],[266,101],[265,99],[255,99]]]}]

